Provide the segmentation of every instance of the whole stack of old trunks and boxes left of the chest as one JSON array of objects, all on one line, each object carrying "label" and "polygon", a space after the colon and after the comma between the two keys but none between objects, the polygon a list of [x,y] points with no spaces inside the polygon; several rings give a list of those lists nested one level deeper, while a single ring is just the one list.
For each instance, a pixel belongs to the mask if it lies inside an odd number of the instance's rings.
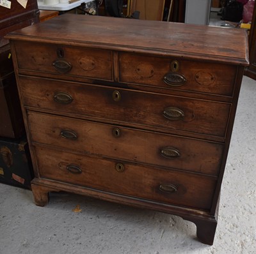
[{"label": "whole stack of old trunks and boxes left of the chest", "polygon": [[17,1],[0,6],[0,182],[30,188],[33,170],[13,71],[9,41],[4,36],[38,22],[36,0],[26,8]]}]

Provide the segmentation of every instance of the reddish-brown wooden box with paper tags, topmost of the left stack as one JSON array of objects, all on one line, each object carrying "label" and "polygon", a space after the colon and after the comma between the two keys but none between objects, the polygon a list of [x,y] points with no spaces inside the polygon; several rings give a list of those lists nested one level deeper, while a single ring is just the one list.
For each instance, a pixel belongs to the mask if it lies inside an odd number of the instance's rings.
[{"label": "reddish-brown wooden box with paper tags, topmost of the left stack", "polygon": [[0,6],[0,47],[8,44],[4,35],[37,22],[39,22],[39,10],[36,0],[28,0],[26,8],[17,1],[12,1],[10,9]]}]

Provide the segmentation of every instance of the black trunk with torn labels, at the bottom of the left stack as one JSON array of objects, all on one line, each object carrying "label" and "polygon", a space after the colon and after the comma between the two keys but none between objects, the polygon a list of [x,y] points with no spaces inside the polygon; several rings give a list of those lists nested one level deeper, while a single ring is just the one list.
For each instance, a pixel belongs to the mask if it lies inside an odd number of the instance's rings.
[{"label": "black trunk with torn labels, at the bottom of the left stack", "polygon": [[26,137],[0,139],[0,183],[30,189],[33,169]]}]

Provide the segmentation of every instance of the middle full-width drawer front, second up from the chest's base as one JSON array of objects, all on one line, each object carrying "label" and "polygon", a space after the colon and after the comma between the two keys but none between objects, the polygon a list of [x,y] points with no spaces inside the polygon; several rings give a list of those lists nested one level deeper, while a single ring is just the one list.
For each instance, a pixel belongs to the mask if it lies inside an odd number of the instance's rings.
[{"label": "middle full-width drawer front, second up from the chest's base", "polygon": [[28,112],[33,142],[76,153],[218,175],[223,146],[193,138]]}]

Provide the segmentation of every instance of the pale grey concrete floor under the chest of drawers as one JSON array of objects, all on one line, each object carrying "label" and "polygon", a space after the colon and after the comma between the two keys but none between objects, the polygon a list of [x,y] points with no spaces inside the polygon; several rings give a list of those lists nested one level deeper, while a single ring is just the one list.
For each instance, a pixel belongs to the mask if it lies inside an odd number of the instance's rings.
[{"label": "pale grey concrete floor under the chest of drawers", "polygon": [[195,225],[177,216],[69,193],[51,193],[37,207],[31,191],[0,184],[0,253],[255,253],[255,165],[256,82],[244,77],[213,246],[198,242]]}]

